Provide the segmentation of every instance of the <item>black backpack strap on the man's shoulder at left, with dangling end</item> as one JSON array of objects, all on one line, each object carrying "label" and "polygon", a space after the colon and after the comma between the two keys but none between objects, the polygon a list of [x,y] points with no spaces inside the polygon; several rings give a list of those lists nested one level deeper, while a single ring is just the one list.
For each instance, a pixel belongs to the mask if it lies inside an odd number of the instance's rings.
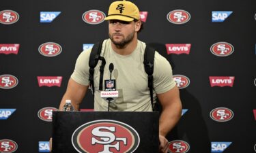
[{"label": "black backpack strap on the man's shoulder at left, with dangling end", "polygon": [[103,41],[104,40],[94,44],[94,46],[91,49],[91,54],[89,56],[89,67],[90,67],[90,69],[89,69],[89,82],[90,82],[90,87],[91,87],[91,91],[92,91],[93,95],[94,95],[94,68],[98,64],[99,60],[102,61],[102,65],[100,65],[100,86],[99,86],[99,90],[102,90],[103,72],[104,72],[104,66],[106,64],[106,61],[105,61],[104,57],[100,56]]}]

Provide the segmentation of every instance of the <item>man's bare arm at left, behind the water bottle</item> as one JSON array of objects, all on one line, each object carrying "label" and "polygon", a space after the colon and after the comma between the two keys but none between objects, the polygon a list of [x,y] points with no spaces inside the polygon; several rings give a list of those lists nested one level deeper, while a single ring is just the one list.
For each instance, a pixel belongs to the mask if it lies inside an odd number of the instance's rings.
[{"label": "man's bare arm at left, behind the water bottle", "polygon": [[84,86],[82,84],[79,84],[72,80],[68,81],[68,87],[61,99],[61,103],[59,105],[59,110],[63,110],[63,106],[66,103],[66,99],[70,99],[72,105],[74,106],[75,110],[79,110],[79,105],[82,102],[83,98],[85,97],[85,94],[87,92],[88,86]]}]

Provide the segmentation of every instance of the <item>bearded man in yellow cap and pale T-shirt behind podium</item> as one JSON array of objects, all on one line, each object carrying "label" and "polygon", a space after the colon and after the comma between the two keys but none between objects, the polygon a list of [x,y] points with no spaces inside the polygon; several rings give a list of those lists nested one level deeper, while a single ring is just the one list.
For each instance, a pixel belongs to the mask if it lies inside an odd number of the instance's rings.
[{"label": "bearded man in yellow cap and pale T-shirt behind podium", "polygon": [[[103,83],[100,82],[100,63],[103,61],[98,61],[94,68],[94,86],[91,86],[94,89],[94,110],[108,111],[109,107],[109,111],[152,112],[148,77],[143,64],[146,45],[137,39],[142,29],[138,7],[130,1],[115,1],[111,3],[108,16],[104,20],[109,21],[109,39],[103,41],[100,57],[104,58],[106,67]],[[60,110],[63,109],[66,99],[70,99],[74,109],[79,110],[79,104],[91,83],[90,54],[91,50],[86,50],[77,58],[66,93],[59,105]],[[153,103],[156,103],[157,97],[162,105],[159,152],[167,153],[168,140],[165,136],[180,119],[182,104],[179,90],[173,80],[171,65],[158,52],[154,54],[153,78]],[[118,91],[118,97],[110,104],[100,96],[106,88],[113,87],[104,84],[106,80],[114,81]],[[102,90],[99,90],[100,84],[103,84]]]}]

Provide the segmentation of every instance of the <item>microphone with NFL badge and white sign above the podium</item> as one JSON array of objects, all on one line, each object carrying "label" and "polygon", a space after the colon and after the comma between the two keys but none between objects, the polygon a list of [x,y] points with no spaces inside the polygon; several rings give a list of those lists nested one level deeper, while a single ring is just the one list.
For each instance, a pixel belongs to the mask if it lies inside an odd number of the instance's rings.
[{"label": "microphone with NFL badge and white sign above the podium", "polygon": [[102,97],[102,99],[105,99],[109,103],[115,101],[115,99],[118,98],[118,91],[115,88],[115,80],[111,80],[113,70],[114,70],[114,65],[113,63],[110,63],[109,64],[110,80],[104,81],[105,90],[100,92],[100,97]]}]

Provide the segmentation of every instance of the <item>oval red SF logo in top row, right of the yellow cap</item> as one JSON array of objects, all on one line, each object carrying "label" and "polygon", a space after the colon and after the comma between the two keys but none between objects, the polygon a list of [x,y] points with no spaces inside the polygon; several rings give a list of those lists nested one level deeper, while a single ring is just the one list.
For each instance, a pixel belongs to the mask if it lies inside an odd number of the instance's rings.
[{"label": "oval red SF logo in top row, right of the yellow cap", "polygon": [[184,10],[173,10],[167,14],[167,20],[174,24],[184,24],[190,20],[190,14]]}]

